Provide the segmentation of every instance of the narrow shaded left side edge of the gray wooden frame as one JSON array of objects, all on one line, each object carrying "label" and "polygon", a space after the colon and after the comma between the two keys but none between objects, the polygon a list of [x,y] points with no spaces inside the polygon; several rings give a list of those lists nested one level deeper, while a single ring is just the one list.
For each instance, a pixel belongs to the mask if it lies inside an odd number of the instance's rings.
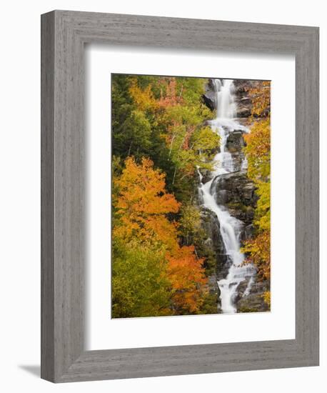
[{"label": "narrow shaded left side edge of the gray wooden frame", "polygon": [[54,376],[54,14],[41,19],[41,375]]}]

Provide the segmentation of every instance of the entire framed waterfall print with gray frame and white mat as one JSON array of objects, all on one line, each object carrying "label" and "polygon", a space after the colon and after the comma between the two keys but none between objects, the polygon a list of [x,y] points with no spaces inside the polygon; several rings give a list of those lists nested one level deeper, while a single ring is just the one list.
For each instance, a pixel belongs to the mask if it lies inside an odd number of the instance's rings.
[{"label": "entire framed waterfall print with gray frame and white mat", "polygon": [[318,28],[41,29],[41,377],[318,365]]}]

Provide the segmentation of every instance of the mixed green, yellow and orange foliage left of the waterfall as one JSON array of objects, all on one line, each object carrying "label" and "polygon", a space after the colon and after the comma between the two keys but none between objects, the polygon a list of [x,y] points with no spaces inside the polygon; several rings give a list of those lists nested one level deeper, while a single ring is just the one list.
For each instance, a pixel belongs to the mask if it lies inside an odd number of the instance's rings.
[{"label": "mixed green, yellow and orange foliage left of the waterfall", "polygon": [[219,146],[204,83],[113,76],[113,317],[213,312],[193,194]]}]

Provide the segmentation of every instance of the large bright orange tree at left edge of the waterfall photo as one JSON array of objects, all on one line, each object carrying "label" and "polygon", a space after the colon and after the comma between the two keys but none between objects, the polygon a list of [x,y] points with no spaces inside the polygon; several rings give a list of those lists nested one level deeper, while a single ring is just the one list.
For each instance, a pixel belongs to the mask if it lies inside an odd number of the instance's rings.
[{"label": "large bright orange tree at left edge of the waterfall photo", "polygon": [[165,190],[165,175],[153,168],[150,159],[143,158],[136,164],[133,157],[125,161],[125,169],[114,179],[119,189],[116,214],[119,224],[114,236],[129,242],[132,237],[153,239],[171,244],[171,235],[176,237],[176,224],[168,220],[168,213],[176,213],[179,203],[173,194]]}]

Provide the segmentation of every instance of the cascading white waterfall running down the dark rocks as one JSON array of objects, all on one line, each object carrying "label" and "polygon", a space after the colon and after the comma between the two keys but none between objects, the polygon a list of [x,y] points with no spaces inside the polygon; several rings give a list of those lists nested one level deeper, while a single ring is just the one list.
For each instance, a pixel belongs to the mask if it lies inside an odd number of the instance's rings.
[{"label": "cascading white waterfall running down the dark rocks", "polygon": [[[220,224],[221,238],[226,249],[226,255],[231,267],[225,279],[218,281],[218,287],[221,291],[221,311],[223,313],[235,313],[235,298],[237,295],[238,285],[248,279],[248,284],[243,295],[246,296],[251,290],[253,277],[256,273],[252,265],[242,266],[244,255],[240,251],[240,234],[243,222],[232,217],[228,210],[216,203],[215,190],[219,178],[223,174],[234,171],[233,157],[229,151],[226,151],[226,141],[231,131],[242,129],[247,131],[246,127],[236,121],[236,104],[233,99],[233,80],[220,79],[214,80],[216,88],[216,119],[210,124],[213,131],[221,137],[220,152],[213,158],[213,178],[206,184],[200,186],[203,198],[203,205],[216,214]],[[246,169],[247,162],[243,161],[242,169]],[[200,174],[200,179],[202,176]]]}]

